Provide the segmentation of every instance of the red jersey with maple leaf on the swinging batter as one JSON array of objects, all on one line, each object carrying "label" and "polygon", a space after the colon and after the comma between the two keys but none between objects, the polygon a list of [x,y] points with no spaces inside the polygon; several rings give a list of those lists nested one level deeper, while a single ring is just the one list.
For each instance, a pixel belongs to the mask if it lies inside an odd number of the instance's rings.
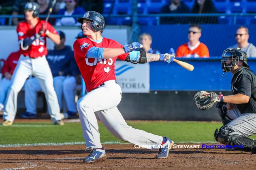
[{"label": "red jersey with maple leaf on the swinging batter", "polygon": [[117,58],[125,60],[129,54],[125,53],[124,55],[112,59],[90,59],[85,56],[92,46],[100,48],[123,48],[123,46],[115,40],[107,38],[103,38],[100,43],[91,41],[89,38],[77,39],[74,42],[75,60],[83,76],[88,92],[108,80],[116,80],[115,61]]}]

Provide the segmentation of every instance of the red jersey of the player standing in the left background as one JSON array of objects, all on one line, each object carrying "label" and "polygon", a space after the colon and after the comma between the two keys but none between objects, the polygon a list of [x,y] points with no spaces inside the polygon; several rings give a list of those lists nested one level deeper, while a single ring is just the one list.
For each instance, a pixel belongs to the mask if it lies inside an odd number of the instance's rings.
[{"label": "red jersey of the player standing in the left background", "polygon": [[[18,34],[19,44],[20,44],[21,40],[23,40],[25,38],[30,38],[30,37],[38,34],[39,29],[41,29],[43,23],[45,23],[45,21],[38,19],[38,23],[36,24],[36,26],[34,28],[32,28],[30,26],[30,24],[27,23],[26,21],[19,23],[17,26],[17,34]],[[57,31],[48,22],[46,23],[46,28],[51,33],[58,34]],[[39,38],[34,40],[34,42],[32,42],[32,44],[28,47],[27,50],[22,50],[21,47],[19,47],[19,48],[20,48],[19,50],[22,55],[30,56],[31,58],[37,58],[37,57],[41,57],[43,55],[47,55],[46,35],[43,34]]]}]

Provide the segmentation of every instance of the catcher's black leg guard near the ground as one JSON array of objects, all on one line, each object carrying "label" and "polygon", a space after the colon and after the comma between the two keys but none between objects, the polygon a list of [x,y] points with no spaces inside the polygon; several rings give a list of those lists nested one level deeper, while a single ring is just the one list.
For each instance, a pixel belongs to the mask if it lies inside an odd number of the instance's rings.
[{"label": "catcher's black leg guard near the ground", "polygon": [[214,138],[216,141],[224,145],[237,145],[243,146],[243,149],[251,149],[253,145],[256,145],[256,141],[252,140],[246,136],[243,136],[240,132],[236,132],[227,125],[224,125],[215,130]]}]

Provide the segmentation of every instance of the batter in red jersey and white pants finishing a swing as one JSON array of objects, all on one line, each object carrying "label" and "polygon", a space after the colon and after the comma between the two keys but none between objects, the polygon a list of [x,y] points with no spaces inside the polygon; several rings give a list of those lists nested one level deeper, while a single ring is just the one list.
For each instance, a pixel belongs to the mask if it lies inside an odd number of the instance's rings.
[{"label": "batter in red jersey and white pants finishing a swing", "polygon": [[[115,61],[121,59],[132,63],[146,63],[150,61],[164,61],[170,63],[174,56],[169,54],[151,54],[142,50],[138,42],[122,46],[115,40],[103,38],[101,33],[105,20],[95,11],[88,11],[82,18],[81,29],[87,38],[74,42],[75,60],[85,80],[88,91],[77,102],[77,110],[81,120],[83,135],[90,154],[83,162],[90,163],[105,160],[105,150],[100,143],[98,123],[94,112],[107,129],[122,141],[137,145],[161,146],[156,158],[168,157],[173,141],[132,128],[126,124],[122,114],[117,109],[121,101],[122,91],[115,81]],[[159,147],[158,147],[159,148]]]}]

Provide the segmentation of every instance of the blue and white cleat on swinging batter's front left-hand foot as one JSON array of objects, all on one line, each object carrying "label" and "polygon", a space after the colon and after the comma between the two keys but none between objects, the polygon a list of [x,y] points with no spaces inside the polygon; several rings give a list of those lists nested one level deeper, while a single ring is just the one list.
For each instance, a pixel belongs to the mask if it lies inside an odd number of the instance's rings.
[{"label": "blue and white cleat on swinging batter's front left-hand foot", "polygon": [[105,153],[104,148],[98,149],[98,148],[87,148],[90,151],[90,154],[83,159],[83,162],[85,163],[92,163],[92,162],[102,162],[105,161],[107,156]]}]

